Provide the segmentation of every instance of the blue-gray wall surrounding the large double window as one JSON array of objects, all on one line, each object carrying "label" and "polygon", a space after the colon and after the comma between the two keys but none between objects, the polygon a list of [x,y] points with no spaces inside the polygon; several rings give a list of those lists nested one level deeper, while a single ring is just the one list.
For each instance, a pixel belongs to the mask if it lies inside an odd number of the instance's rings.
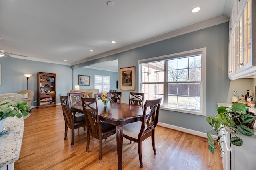
[{"label": "blue-gray wall surrounding the large double window", "polygon": [[[216,114],[217,102],[230,103],[231,94],[234,90],[237,90],[238,94],[245,94],[247,88],[252,88],[251,79],[234,80],[232,82],[228,79],[228,23],[223,23],[108,57],[110,60],[118,59],[119,68],[136,66],[135,75],[137,91],[138,60],[203,47],[206,47],[206,116],[160,110],[159,121],[205,133],[205,130],[210,130],[210,125],[206,122],[206,117]],[[97,60],[91,62],[95,63]],[[130,91],[121,91],[122,102],[127,103]]]}]

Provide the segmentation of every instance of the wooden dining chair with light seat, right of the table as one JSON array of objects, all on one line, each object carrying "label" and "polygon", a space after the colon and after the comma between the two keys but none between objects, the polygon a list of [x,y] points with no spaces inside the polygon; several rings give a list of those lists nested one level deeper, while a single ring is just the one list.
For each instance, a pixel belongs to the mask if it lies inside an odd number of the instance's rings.
[{"label": "wooden dining chair with light seat, right of the table", "polygon": [[153,100],[146,100],[144,104],[142,121],[136,121],[124,125],[124,137],[126,139],[138,143],[138,152],[140,159],[140,167],[142,163],[142,141],[151,136],[154,154],[156,154],[155,147],[155,127],[158,123],[159,108],[162,98]]}]

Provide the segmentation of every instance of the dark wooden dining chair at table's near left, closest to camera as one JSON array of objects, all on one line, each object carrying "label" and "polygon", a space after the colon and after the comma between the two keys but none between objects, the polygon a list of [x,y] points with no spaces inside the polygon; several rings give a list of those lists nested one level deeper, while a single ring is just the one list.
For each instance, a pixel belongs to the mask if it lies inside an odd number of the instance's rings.
[{"label": "dark wooden dining chair at table's near left, closest to camera", "polygon": [[100,121],[98,114],[98,106],[96,98],[82,97],[82,106],[87,127],[87,145],[86,153],[89,152],[90,136],[99,140],[100,157],[99,163],[102,161],[102,140],[116,133],[116,126]]}]

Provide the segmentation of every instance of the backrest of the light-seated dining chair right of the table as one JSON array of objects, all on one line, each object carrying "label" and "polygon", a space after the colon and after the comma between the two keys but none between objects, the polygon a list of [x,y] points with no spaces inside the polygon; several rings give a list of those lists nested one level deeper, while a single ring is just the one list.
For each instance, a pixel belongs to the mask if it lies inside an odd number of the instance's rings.
[{"label": "backrest of the light-seated dining chair right of the table", "polygon": [[142,116],[142,126],[139,133],[140,137],[146,133],[152,132],[152,130],[156,127],[158,123],[161,100],[162,98],[146,100]]}]

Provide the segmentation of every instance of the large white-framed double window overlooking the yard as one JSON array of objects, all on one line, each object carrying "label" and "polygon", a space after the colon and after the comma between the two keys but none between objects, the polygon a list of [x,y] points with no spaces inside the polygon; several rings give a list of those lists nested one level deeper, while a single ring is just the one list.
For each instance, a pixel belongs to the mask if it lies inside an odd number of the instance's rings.
[{"label": "large white-framed double window overlooking the yard", "polygon": [[205,115],[205,48],[138,61],[145,100],[162,97],[161,109]]}]

